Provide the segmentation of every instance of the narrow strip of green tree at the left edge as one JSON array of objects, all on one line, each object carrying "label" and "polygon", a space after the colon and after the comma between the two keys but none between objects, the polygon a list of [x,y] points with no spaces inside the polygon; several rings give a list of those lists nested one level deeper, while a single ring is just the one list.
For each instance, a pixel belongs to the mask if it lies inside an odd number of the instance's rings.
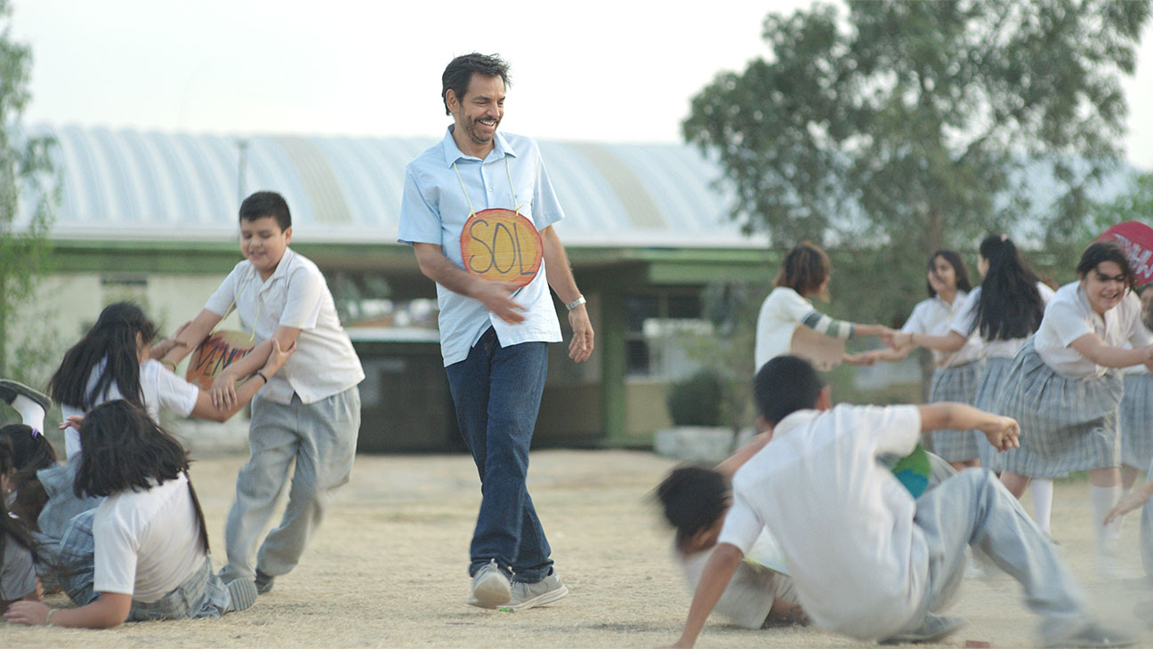
[{"label": "narrow strip of green tree at the left edge", "polygon": [[48,157],[52,139],[21,128],[32,60],[27,45],[12,40],[10,21],[12,7],[0,0],[0,377],[30,382],[48,341],[17,337],[14,324],[36,305],[58,190]]}]

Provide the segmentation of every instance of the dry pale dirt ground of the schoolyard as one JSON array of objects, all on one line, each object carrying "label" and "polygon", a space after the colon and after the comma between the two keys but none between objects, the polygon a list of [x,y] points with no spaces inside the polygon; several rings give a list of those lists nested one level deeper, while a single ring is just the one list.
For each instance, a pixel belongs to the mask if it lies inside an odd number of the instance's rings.
[{"label": "dry pale dirt ground of the schoolyard", "polygon": [[[199,461],[193,481],[224,560],[224,519],[241,456]],[[631,451],[542,451],[529,490],[572,594],[549,606],[502,613],[465,604],[468,539],[480,503],[465,455],[357,458],[301,565],[256,605],[219,620],[128,624],[92,632],[0,627],[2,647],[656,647],[677,639],[688,593],[670,558],[670,533],[648,499],[673,461]],[[1088,486],[1057,484],[1054,531],[1091,608],[1153,647],[1132,609],[1153,590],[1095,573]],[[1137,516],[1125,522],[1125,566],[1138,576]],[[55,597],[53,605],[66,603]],[[950,614],[966,640],[1033,647],[1037,618],[1008,578],[969,581]],[[699,647],[866,647],[815,628],[746,631],[714,618]]]}]

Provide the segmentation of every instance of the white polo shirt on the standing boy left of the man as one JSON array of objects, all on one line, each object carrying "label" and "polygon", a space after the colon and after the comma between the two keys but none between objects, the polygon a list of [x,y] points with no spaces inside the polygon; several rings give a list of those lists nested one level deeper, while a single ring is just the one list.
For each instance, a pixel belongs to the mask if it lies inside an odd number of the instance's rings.
[{"label": "white polo shirt on the standing boy left of the man", "polygon": [[296,353],[261,388],[262,399],[288,405],[296,393],[302,402],[315,403],[364,379],[324,276],[291,248],[267,280],[248,259],[236,264],[204,308],[221,318],[235,308],[241,327],[255,331],[257,342],[272,338],[278,326],[301,330]]}]

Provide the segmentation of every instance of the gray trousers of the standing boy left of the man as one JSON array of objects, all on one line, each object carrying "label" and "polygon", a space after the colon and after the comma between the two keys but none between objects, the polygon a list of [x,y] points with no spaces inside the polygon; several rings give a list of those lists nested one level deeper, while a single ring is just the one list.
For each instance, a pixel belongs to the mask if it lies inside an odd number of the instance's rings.
[{"label": "gray trousers of the standing boy left of the man", "polygon": [[[253,399],[248,430],[251,455],[236,475],[236,501],[225,527],[228,565],[220,569],[224,581],[253,579],[254,554],[256,566],[270,576],[296,567],[324,520],[333,491],[352,475],[359,432],[360,392],[355,386],[307,405],[296,395],[288,406]],[[294,467],[280,525],[261,543]]]}]

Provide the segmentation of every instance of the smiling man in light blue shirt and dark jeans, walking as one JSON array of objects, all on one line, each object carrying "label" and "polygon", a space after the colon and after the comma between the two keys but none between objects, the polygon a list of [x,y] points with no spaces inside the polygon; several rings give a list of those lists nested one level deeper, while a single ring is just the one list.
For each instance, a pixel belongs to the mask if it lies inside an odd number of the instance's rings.
[{"label": "smiling man in light blue shirt and dark jeans, walking", "polygon": [[[436,281],[440,352],[460,432],[481,477],[468,603],[522,610],[568,593],[552,568],[525,486],[547,346],[562,340],[549,287],[568,309],[573,361],[593,353],[593,326],[552,228],[564,211],[536,142],[497,133],[507,63],[496,55],[466,54],[449,63],[442,82],[453,123],[444,141],[408,165],[398,240],[413,246],[421,272]],[[513,210],[540,233],[543,263],[519,288],[465,270],[461,232],[487,209]]]}]

